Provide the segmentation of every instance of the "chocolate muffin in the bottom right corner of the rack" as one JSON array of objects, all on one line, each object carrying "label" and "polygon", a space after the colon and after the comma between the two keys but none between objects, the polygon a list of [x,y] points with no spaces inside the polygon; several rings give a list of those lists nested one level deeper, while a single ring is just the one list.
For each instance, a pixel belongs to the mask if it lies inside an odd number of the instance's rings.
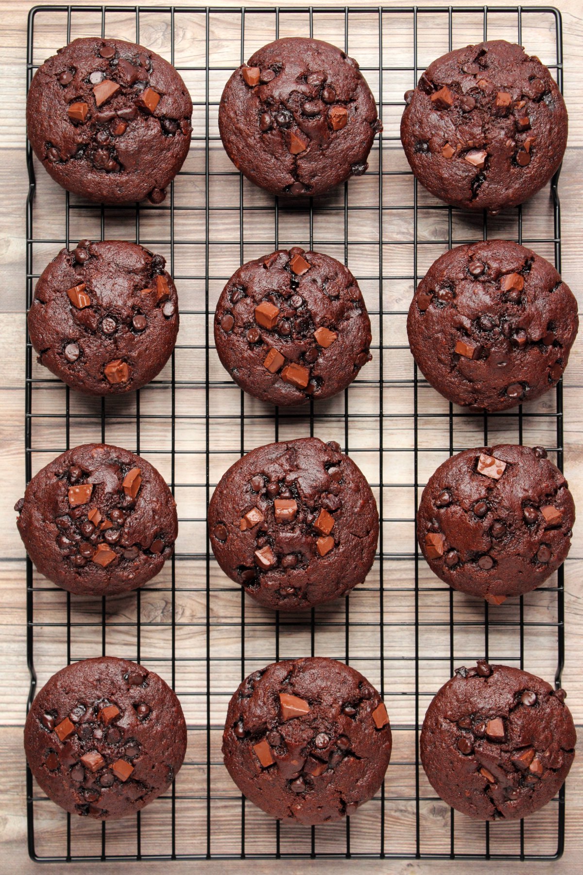
[{"label": "chocolate muffin in the bottom right corner of the rack", "polygon": [[421,763],[444,802],[476,820],[517,820],[562,787],[577,739],[565,690],[480,660],[427,709]]}]

